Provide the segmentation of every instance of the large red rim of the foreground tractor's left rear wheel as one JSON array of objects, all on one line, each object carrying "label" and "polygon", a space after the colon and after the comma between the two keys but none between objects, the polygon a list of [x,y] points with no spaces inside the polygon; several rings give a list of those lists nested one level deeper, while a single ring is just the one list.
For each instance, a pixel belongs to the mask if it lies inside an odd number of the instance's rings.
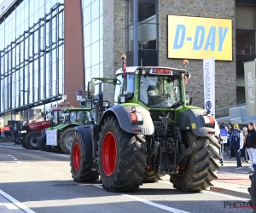
[{"label": "large red rim of the foreground tractor's left rear wheel", "polygon": [[108,132],[102,144],[102,166],[106,176],[111,176],[115,169],[117,158],[116,141],[113,133]]}]

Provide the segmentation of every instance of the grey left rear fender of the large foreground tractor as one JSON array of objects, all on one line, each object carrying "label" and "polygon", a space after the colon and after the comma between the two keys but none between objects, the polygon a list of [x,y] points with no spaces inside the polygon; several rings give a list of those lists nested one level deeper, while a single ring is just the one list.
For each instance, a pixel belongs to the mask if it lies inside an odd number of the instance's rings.
[{"label": "grey left rear fender of the large foreground tractor", "polygon": [[[140,113],[143,116],[143,124],[132,124],[130,115],[132,112],[131,107],[136,107],[136,113]],[[150,113],[147,109],[137,104],[129,104],[129,106],[120,104],[108,108],[108,110],[103,113],[99,122],[99,131],[102,130],[103,121],[109,116],[115,116],[119,121],[120,128],[125,132],[142,135],[152,135],[154,133],[154,124]],[[141,132],[137,133],[134,130],[141,130]]]}]

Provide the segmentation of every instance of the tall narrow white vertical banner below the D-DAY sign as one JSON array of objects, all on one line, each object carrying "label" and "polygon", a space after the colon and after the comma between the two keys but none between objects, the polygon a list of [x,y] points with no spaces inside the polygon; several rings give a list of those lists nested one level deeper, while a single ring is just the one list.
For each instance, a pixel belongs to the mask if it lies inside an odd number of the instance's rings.
[{"label": "tall narrow white vertical banner below the D-DAY sign", "polygon": [[215,116],[215,60],[203,60],[205,109]]}]

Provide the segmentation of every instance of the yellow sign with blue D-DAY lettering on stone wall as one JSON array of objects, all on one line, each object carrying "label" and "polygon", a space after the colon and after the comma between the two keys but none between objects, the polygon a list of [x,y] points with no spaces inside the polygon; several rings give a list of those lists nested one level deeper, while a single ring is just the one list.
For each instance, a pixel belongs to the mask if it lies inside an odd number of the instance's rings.
[{"label": "yellow sign with blue D-DAY lettering on stone wall", "polygon": [[232,60],[232,20],[168,15],[168,58]]}]

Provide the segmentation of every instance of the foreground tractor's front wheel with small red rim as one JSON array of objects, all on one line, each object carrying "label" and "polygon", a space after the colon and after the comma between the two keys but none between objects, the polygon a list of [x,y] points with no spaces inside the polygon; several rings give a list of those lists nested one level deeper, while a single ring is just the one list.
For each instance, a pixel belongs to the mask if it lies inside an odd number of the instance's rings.
[{"label": "foreground tractor's front wheel with small red rim", "polygon": [[99,175],[91,170],[92,161],[84,162],[85,149],[78,132],[73,135],[70,153],[71,173],[74,181],[96,181]]}]

